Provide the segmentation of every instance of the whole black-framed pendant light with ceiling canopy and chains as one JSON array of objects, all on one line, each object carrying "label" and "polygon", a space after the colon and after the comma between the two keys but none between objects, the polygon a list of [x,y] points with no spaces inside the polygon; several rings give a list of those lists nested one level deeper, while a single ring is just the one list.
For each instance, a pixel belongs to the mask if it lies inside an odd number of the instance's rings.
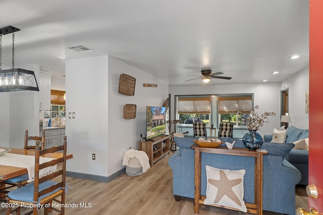
[{"label": "whole black-framed pendant light with ceiling canopy and chains", "polygon": [[[0,92],[39,91],[33,71],[15,68],[15,32],[20,29],[7,26],[0,29]],[[12,33],[12,69],[2,70],[2,36]]]}]

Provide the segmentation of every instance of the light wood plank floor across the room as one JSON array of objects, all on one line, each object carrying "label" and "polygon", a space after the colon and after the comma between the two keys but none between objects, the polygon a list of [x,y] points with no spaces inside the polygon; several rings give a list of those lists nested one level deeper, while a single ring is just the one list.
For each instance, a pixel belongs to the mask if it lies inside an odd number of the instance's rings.
[{"label": "light wood plank floor across the room", "polygon": [[[123,174],[109,183],[67,177],[68,189],[66,203],[75,203],[78,207],[66,208],[65,214],[97,214],[97,215],[166,215],[194,214],[194,199],[181,198],[175,201],[172,191],[173,174],[168,166],[168,159],[174,154],[157,161],[152,168],[141,176]],[[305,187],[296,188],[296,206],[307,208]],[[85,203],[90,207],[81,207]],[[23,210],[21,214],[24,214]],[[27,210],[28,211],[28,210]],[[6,214],[0,208],[0,214]],[[41,213],[42,214],[42,211]],[[49,214],[57,214],[50,212]],[[201,205],[201,215],[244,214],[223,208]],[[265,215],[279,213],[264,211]]]}]

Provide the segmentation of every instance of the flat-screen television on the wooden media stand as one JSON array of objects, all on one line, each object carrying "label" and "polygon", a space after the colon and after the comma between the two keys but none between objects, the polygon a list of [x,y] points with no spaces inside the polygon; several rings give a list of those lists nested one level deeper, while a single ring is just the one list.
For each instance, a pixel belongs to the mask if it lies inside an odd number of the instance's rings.
[{"label": "flat-screen television on the wooden media stand", "polygon": [[146,139],[166,133],[166,107],[147,106]]}]

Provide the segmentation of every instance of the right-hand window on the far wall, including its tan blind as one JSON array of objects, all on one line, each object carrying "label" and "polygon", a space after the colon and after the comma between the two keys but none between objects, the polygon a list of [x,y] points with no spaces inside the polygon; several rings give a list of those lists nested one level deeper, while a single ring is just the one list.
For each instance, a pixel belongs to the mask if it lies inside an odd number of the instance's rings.
[{"label": "right-hand window on the far wall, including its tan blind", "polygon": [[[241,119],[247,118],[252,111],[252,97],[224,96],[218,98],[220,122],[231,122],[235,126],[244,126]],[[238,111],[241,113],[238,114]]]}]

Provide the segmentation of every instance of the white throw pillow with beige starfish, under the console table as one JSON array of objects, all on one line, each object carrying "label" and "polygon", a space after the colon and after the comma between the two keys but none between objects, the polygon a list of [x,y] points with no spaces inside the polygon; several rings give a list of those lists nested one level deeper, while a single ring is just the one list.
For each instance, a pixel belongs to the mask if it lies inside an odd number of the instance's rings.
[{"label": "white throw pillow with beige starfish, under the console table", "polygon": [[206,166],[206,198],[204,204],[216,204],[247,212],[243,201],[245,170],[222,170]]}]

